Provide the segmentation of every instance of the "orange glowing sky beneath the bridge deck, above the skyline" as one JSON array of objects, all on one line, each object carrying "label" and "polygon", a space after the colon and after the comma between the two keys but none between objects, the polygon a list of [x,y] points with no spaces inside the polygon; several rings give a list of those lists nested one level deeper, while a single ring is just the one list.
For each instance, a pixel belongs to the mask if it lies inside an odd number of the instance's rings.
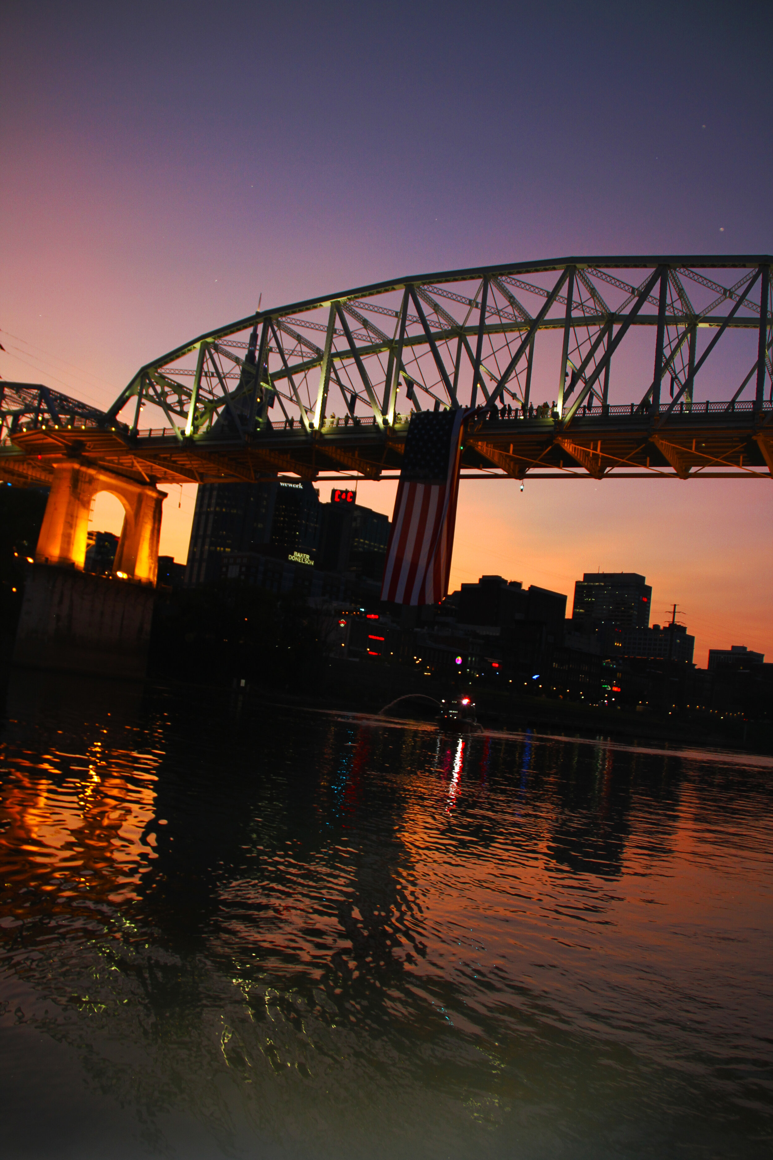
[{"label": "orange glowing sky beneath the bridge deck, above the skyline", "polygon": [[[162,490],[161,554],[184,564],[196,485]],[[391,517],[395,492],[393,480],[360,480],[357,502]],[[709,648],[732,644],[771,660],[773,603],[760,582],[773,575],[770,506],[767,480],[526,479],[523,492],[515,480],[462,480],[450,590],[502,575],[564,593],[571,616],[583,572],[640,572],[652,586],[650,624],[676,603],[699,668]],[[89,528],[118,535],[122,520],[100,494]]]}]

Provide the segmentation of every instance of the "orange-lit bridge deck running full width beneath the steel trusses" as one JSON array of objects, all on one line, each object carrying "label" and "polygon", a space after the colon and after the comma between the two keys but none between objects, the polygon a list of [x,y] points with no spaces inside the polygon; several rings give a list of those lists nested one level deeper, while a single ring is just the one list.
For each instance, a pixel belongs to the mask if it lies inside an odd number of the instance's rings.
[{"label": "orange-lit bridge deck running full width beneath the steel trusses", "polygon": [[[407,432],[407,422],[382,429],[367,418],[345,426],[335,420],[311,434],[298,422],[265,422],[242,438],[49,425],[17,432],[0,447],[0,478],[49,483],[53,465],[72,457],[160,484],[254,481],[277,473],[392,478],[400,471]],[[569,426],[553,419],[471,415],[462,448],[462,477],[771,478],[773,406],[712,403],[668,413],[663,405],[657,414],[596,407],[576,414]]]}]

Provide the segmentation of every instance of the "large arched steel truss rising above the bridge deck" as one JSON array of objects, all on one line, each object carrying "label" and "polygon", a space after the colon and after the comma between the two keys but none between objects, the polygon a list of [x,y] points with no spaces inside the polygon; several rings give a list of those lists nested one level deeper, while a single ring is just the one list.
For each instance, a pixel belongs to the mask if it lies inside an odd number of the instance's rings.
[{"label": "large arched steel truss rising above the bridge deck", "polygon": [[[659,409],[664,383],[674,406],[692,405],[703,364],[731,331],[748,334],[752,369],[724,397],[738,401],[750,389],[760,409],[771,371],[771,261],[569,258],[360,287],[199,335],[140,368],[108,416],[136,399],[132,429],[150,401],[181,435],[205,438],[228,423],[246,436],[264,428],[278,401],[285,421],[311,438],[336,409],[392,426],[400,390],[410,413],[481,400],[527,411],[533,390],[549,387],[559,418],[571,423],[589,403],[611,401],[618,368],[629,382],[635,369],[637,406]],[[642,328],[654,340],[649,365]]]}]

